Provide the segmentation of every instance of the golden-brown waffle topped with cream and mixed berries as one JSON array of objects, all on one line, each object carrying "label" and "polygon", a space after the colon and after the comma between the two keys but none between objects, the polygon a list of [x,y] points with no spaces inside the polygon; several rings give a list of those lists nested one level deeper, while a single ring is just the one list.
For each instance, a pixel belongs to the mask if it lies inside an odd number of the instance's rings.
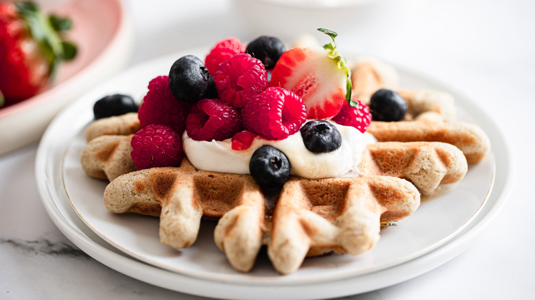
[{"label": "golden-brown waffle topped with cream and mixed berries", "polygon": [[[378,88],[396,86],[396,73],[387,65],[359,63],[353,74],[359,97],[369,99]],[[466,175],[467,159],[475,160],[468,155],[473,141],[456,133],[444,138],[449,134],[444,125],[457,124],[453,98],[436,91],[399,92],[409,113],[400,122],[372,122],[368,132],[389,141],[366,147],[353,170],[358,176],[291,176],[272,194],[250,175],[198,171],[187,158],[179,167],[134,171],[130,138],[139,130],[135,114],[88,127],[82,166],[88,175],[110,181],[104,192],[110,212],[159,216],[163,244],[187,248],[197,239],[202,218],[216,218],[215,244],[235,269],[250,271],[265,246],[276,271],[288,274],[307,256],[364,253],[378,242],[381,222],[399,221],[418,208],[420,192],[432,194],[440,184],[459,182]],[[387,125],[396,126],[381,127]],[[427,133],[428,127],[434,133]],[[399,136],[396,130],[401,129],[409,141],[381,136],[392,131]],[[466,147],[455,147],[464,146],[462,142]]]}]

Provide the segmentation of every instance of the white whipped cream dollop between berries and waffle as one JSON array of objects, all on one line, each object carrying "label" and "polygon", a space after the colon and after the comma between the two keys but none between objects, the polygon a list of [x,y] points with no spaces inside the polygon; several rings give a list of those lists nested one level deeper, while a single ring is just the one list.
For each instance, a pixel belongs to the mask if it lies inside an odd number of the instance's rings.
[{"label": "white whipped cream dollop between berries and waffle", "polygon": [[193,140],[187,132],[182,135],[182,147],[187,158],[198,170],[249,174],[252,153],[264,145],[282,151],[290,162],[290,174],[305,178],[342,177],[356,167],[366,145],[376,142],[372,134],[362,134],[355,127],[333,123],[342,135],[340,148],[329,153],[313,153],[302,141],[300,132],[284,140],[254,138],[249,149],[233,150],[230,138],[226,140]]}]

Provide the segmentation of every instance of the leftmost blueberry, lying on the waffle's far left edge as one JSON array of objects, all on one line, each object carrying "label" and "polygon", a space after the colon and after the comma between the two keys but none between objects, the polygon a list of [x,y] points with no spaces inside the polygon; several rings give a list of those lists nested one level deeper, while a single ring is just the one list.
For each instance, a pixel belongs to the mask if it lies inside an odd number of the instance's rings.
[{"label": "leftmost blueberry, lying on the waffle's far left edge", "polygon": [[120,116],[127,112],[137,112],[134,99],[128,95],[115,94],[99,99],[93,105],[95,118],[108,118],[108,116]]}]

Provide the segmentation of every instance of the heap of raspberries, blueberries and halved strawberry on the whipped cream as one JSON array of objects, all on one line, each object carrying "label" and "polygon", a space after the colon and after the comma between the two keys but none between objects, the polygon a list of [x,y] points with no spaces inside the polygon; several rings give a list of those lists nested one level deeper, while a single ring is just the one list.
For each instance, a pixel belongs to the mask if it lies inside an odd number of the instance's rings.
[{"label": "heap of raspberries, blueberries and halved strawberry on the whipped cream", "polygon": [[[350,74],[336,34],[320,31],[333,42],[286,51],[270,36],[248,45],[225,38],[204,63],[193,55],[176,60],[168,76],[151,80],[139,108],[143,129],[131,142],[136,168],[180,164],[184,132],[193,140],[230,138],[234,150],[248,149],[257,137],[283,140],[300,132],[309,151],[326,153],[340,148],[342,137],[324,120],[366,131],[370,110],[350,99]],[[307,118],[313,120],[305,123]],[[250,160],[250,173],[264,189],[281,188],[289,169],[285,154],[271,146],[257,149]]]}]

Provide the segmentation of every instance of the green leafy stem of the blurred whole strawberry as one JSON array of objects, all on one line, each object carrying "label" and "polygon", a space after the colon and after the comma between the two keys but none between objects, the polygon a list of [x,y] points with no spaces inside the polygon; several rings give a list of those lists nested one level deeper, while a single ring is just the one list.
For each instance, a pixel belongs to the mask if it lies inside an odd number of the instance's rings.
[{"label": "green leafy stem of the blurred whole strawberry", "polygon": [[36,3],[25,1],[16,3],[19,17],[29,29],[29,34],[38,43],[40,52],[49,63],[49,75],[53,77],[63,60],[72,60],[77,52],[75,45],[62,40],[61,34],[71,28],[68,18],[47,16],[40,12]]}]

